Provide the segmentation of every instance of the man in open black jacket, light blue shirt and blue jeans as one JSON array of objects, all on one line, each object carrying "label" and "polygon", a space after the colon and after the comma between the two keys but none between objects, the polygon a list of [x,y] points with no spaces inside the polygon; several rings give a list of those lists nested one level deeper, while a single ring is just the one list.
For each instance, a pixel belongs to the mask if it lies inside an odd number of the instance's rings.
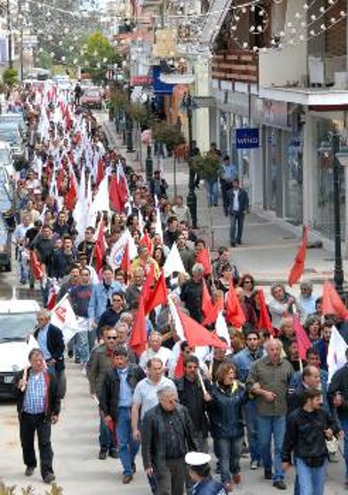
[{"label": "man in open black jacket, light blue shirt and blue jeans", "polygon": [[134,459],[139,450],[139,442],[132,436],[131,407],[134,388],[145,373],[136,364],[128,363],[125,347],[113,351],[113,370],[105,375],[100,392],[100,411],[104,423],[116,430],[118,453],[123,466],[123,482],[133,479],[136,466]]}]

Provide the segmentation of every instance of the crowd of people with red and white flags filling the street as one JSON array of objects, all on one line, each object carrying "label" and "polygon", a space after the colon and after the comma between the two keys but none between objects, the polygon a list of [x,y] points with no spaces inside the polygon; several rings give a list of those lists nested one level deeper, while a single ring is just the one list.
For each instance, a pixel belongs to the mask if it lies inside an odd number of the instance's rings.
[{"label": "crowd of people with red and white flags filling the street", "polygon": [[[16,382],[26,476],[38,464],[36,433],[42,478],[55,479],[51,425],[64,421],[71,359],[99,411],[99,459],[118,459],[125,484],[136,482],[140,448],[153,493],[222,495],[244,476],[247,487],[248,453],[250,469],[276,489],[286,489],[294,464],[296,493],[320,495],[342,437],[348,488],[348,367],[328,384],[331,334],[346,333],[342,311],[327,313],[308,281],[299,293],[276,283],[265,301],[230,246],[211,256],[164,174],[146,181],[64,91],[11,98],[32,130],[29,160],[11,184],[17,273],[45,307],[31,366]],[[241,244],[248,200],[229,157],[219,183],[230,244]],[[69,340],[51,322],[60,301],[77,317]],[[206,462],[188,469],[190,451],[214,453],[214,476]]]}]

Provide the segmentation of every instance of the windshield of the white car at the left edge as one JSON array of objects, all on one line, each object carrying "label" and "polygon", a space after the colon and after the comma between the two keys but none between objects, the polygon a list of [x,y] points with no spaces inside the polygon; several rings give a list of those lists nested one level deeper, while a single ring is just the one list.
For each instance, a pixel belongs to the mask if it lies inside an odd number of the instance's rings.
[{"label": "windshield of the white car at the left edge", "polygon": [[25,340],[36,324],[36,313],[0,315],[0,343],[8,340]]}]

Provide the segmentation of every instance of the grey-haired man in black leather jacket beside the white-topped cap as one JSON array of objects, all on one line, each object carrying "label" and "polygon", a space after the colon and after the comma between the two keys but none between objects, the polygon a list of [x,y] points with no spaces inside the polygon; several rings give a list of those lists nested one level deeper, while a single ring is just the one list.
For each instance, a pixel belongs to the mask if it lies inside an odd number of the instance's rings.
[{"label": "grey-haired man in black leather jacket beside the white-topped cap", "polygon": [[159,404],[145,413],[141,428],[144,469],[149,478],[155,477],[157,494],[182,495],[184,457],[188,450],[197,450],[193,426],[173,388],[160,388],[157,395]]}]

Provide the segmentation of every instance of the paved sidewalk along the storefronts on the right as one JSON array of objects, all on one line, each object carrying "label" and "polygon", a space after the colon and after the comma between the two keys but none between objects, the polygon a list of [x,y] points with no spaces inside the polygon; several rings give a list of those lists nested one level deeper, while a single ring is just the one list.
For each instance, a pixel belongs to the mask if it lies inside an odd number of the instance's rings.
[{"label": "paved sidewalk along the storefronts on the right", "polygon": [[[132,161],[135,155],[126,153],[120,146],[120,139],[114,131],[115,126],[104,120],[106,134],[111,142],[125,154],[129,164],[140,171],[139,163]],[[145,153],[143,153],[145,157]],[[157,168],[157,159],[154,159],[154,169]],[[173,158],[164,159],[164,177],[169,184],[169,196],[174,194],[174,166]],[[176,166],[177,194],[186,198],[188,193],[189,171],[186,162]],[[220,191],[219,191],[220,193]],[[219,246],[230,246],[229,220],[223,213],[221,195],[219,206],[207,207],[207,199],[203,182],[200,189],[196,189],[198,210],[198,237],[205,239],[214,257]],[[274,282],[287,281],[287,274],[296,256],[301,239],[281,225],[276,218],[267,218],[267,215],[251,213],[246,215],[242,246],[230,248],[232,262],[237,265],[241,273],[250,272],[255,280],[262,285]],[[324,248],[307,250],[305,278],[315,285],[333,278],[334,256]],[[347,276],[346,276],[347,278]]]}]

